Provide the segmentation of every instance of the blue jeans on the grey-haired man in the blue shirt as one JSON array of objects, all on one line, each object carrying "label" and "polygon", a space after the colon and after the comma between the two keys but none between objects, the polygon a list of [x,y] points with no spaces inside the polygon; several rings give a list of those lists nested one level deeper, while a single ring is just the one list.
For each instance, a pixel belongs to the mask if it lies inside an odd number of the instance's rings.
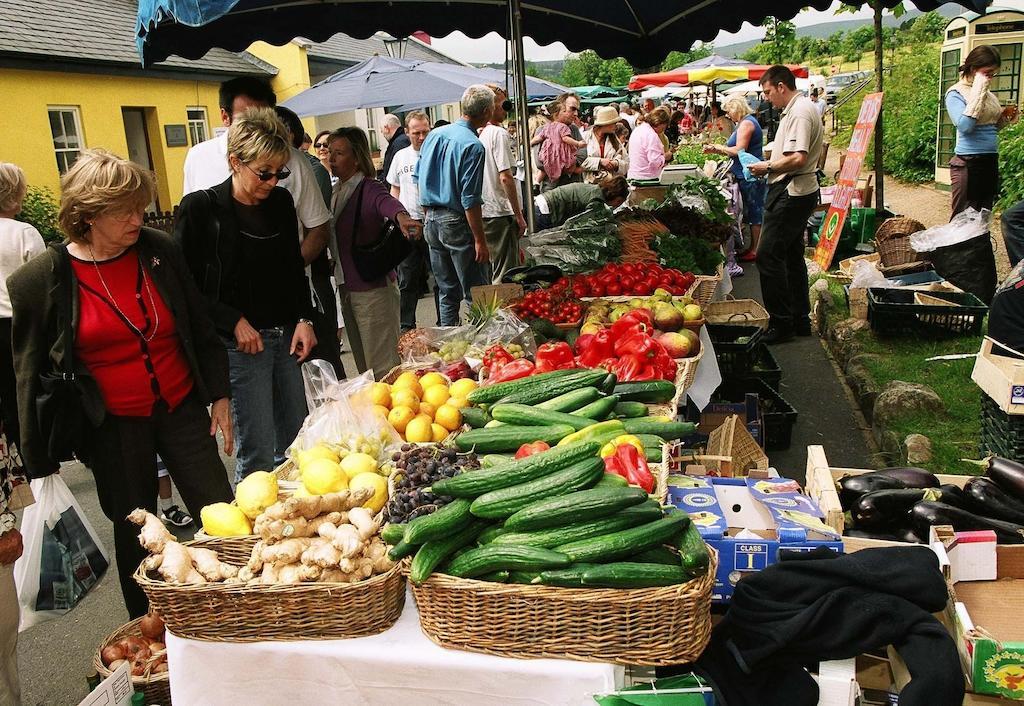
[{"label": "blue jeans on the grey-haired man in the blue shirt", "polygon": [[458,326],[462,300],[470,300],[470,289],[490,284],[487,263],[476,261],[473,232],[463,211],[427,209],[423,237],[430,246],[430,268],[440,292],[441,326]]}]

